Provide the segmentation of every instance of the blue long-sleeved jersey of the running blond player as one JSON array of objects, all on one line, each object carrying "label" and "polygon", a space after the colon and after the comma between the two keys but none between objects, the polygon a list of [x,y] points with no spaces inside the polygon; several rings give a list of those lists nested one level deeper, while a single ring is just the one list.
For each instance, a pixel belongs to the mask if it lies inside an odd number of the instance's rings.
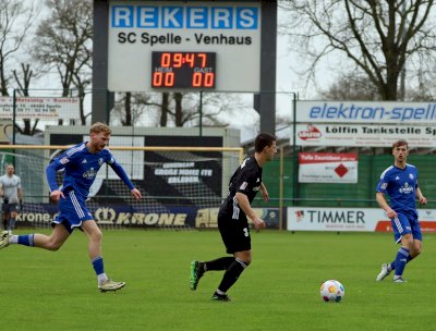
[{"label": "blue long-sleeved jersey of the running blond player", "polygon": [[56,182],[56,173],[63,171],[62,192],[74,191],[81,198],[86,198],[89,194],[90,185],[93,185],[97,172],[104,163],[109,164],[131,191],[134,188],[124,170],[116,161],[109,149],[105,148],[92,154],[86,148],[86,143],[82,143],[66,150],[47,167],[46,174],[50,191],[59,189]]}]

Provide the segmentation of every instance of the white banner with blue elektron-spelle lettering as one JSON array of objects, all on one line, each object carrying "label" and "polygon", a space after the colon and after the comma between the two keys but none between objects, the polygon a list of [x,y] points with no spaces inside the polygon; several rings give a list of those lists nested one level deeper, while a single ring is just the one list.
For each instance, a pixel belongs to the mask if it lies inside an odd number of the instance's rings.
[{"label": "white banner with blue elektron-spelle lettering", "polygon": [[436,124],[436,102],[296,101],[296,122]]}]

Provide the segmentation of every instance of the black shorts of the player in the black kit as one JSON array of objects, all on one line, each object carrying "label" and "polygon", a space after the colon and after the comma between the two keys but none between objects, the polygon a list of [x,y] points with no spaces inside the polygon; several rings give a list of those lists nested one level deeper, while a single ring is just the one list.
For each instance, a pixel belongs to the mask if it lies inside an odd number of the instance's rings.
[{"label": "black shorts of the player in the black kit", "polygon": [[243,212],[239,214],[238,220],[233,220],[231,213],[220,210],[218,213],[218,229],[227,253],[234,254],[252,249],[249,221]]}]

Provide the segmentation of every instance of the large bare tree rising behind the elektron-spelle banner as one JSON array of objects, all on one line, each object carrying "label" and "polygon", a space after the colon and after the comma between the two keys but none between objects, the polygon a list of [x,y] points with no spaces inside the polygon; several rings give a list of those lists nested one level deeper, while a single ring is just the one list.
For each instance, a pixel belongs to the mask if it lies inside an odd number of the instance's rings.
[{"label": "large bare tree rising behind the elektron-spelle banner", "polygon": [[[435,65],[434,0],[290,0],[280,1],[289,20],[280,32],[289,35],[311,65],[311,79],[326,56],[340,57],[364,73],[383,100],[399,97],[408,61],[420,68],[423,57]],[[338,71],[340,68],[338,69]],[[401,96],[402,97],[402,96]]]}]

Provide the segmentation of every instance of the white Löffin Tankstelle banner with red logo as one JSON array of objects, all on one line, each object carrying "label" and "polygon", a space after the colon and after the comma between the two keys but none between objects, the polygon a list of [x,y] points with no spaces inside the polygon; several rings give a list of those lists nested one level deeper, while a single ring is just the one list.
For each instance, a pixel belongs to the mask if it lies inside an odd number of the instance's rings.
[{"label": "white L\u00f6ffin Tankstelle banner with red logo", "polygon": [[[296,124],[296,146],[391,147],[399,138],[411,147],[436,147],[435,125]],[[291,127],[291,145],[293,145]]]}]

